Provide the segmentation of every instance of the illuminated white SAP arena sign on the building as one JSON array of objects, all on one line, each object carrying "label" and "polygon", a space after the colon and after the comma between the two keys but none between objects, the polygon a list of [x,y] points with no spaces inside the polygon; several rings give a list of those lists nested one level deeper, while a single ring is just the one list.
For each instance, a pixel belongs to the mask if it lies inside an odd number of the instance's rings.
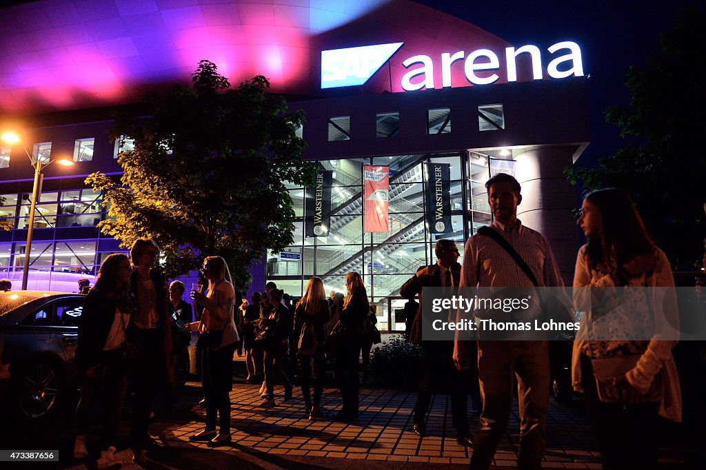
[{"label": "illuminated white SAP arena sign on the building", "polygon": [[[322,51],[321,88],[364,85],[402,47],[402,44],[404,42]],[[583,76],[581,49],[578,44],[570,41],[557,42],[547,48],[547,51],[552,54],[552,59],[546,67],[546,73],[549,77]],[[533,80],[542,80],[544,78],[542,52],[539,47],[528,44],[517,49],[505,47],[508,82],[517,81],[516,60],[521,54],[528,54],[530,57]],[[490,49],[477,49],[469,54],[466,54],[465,51],[443,52],[439,59],[441,60],[441,88],[467,85],[467,83],[451,83],[451,66],[460,61],[463,63],[465,78],[472,85],[490,85],[500,78],[498,73],[482,77],[477,75],[477,72],[500,71],[501,64],[498,54]],[[402,66],[409,69],[402,76],[400,83],[402,90],[435,88],[435,64],[431,56],[421,54],[411,56],[402,61]]]}]

